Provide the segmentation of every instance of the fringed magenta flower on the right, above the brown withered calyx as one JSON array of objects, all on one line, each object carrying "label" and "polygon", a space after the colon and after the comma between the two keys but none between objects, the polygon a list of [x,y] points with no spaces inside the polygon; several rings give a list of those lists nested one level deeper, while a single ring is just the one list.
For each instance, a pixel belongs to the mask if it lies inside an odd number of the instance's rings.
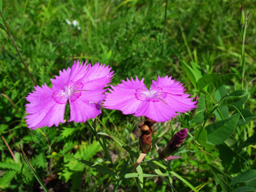
[{"label": "fringed magenta flower on the right, above the brown withered calyx", "polygon": [[185,89],[180,82],[175,82],[172,77],[160,77],[153,81],[148,90],[143,83],[144,78],[135,81],[127,78],[117,86],[111,86],[106,93],[107,97],[103,101],[103,106],[107,109],[121,110],[123,114],[133,114],[134,116],[146,116],[156,122],[171,120],[178,113],[184,113],[195,108],[193,98],[185,94]]}]

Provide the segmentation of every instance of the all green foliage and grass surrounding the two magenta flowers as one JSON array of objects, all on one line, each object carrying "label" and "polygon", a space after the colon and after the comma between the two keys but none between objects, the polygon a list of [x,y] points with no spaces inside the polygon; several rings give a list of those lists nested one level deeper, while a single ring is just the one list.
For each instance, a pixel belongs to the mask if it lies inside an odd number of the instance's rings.
[{"label": "all green foliage and grass surrounding the two magenta flowers", "polygon": [[[39,86],[51,87],[50,78],[79,59],[112,67],[113,84],[138,76],[149,87],[158,75],[169,75],[199,97],[197,110],[158,124],[153,135],[164,147],[180,127],[188,128],[186,144],[177,152],[184,158],[142,163],[134,174],[139,144],[132,115],[102,109],[94,129],[102,131],[98,135],[108,154],[84,124],[27,129],[25,97],[34,84],[1,18],[0,189],[40,190],[20,143],[49,191],[171,191],[171,186],[178,191],[255,191],[256,15],[253,1],[243,2],[244,10],[251,10],[243,84],[242,29],[236,18],[241,2],[0,1],[14,42]],[[222,130],[226,137],[218,137]],[[148,156],[157,157],[155,147]]]}]

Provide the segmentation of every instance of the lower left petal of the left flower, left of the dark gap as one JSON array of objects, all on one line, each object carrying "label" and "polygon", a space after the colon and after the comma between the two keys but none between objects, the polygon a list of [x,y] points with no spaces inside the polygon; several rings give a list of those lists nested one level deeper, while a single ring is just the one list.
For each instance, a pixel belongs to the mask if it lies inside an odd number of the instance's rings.
[{"label": "lower left petal of the left flower, left of the dark gap", "polygon": [[58,126],[59,123],[65,123],[66,102],[55,102],[52,97],[53,91],[46,84],[42,88],[36,86],[35,90],[26,97],[27,101],[30,102],[26,104],[26,113],[29,114],[25,117],[28,128],[34,130],[46,125],[50,127],[53,124]]}]

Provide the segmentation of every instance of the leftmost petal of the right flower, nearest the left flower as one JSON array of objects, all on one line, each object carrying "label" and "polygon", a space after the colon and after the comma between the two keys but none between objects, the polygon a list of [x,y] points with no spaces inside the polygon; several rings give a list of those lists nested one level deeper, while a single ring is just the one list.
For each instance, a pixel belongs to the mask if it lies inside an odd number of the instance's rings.
[{"label": "leftmost petal of the right flower, nearest the left flower", "polygon": [[133,114],[137,111],[142,101],[135,98],[136,90],[140,87],[145,87],[144,78],[139,81],[138,77],[131,78],[131,81],[127,78],[126,82],[122,81],[122,84],[117,86],[111,86],[113,90],[111,93],[106,93],[107,97],[103,101],[103,107],[107,109],[121,110],[123,114]]}]

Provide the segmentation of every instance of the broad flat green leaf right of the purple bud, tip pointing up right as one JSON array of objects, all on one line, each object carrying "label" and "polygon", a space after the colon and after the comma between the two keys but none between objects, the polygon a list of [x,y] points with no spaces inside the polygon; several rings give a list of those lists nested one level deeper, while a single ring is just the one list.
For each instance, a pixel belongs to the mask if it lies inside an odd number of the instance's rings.
[{"label": "broad flat green leaf right of the purple bud, tip pointing up right", "polygon": [[226,141],[234,132],[238,119],[239,115],[236,114],[206,126],[207,141],[213,145],[219,145]]}]

